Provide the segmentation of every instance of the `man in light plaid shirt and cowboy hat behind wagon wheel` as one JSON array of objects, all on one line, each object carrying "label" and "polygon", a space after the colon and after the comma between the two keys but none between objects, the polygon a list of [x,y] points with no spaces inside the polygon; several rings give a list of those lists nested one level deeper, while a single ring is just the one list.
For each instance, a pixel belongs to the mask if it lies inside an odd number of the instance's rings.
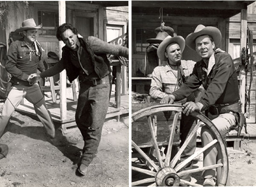
[{"label": "man in light plaid shirt and cowboy hat behind wagon wheel", "polygon": [[[163,99],[180,88],[180,85],[186,82],[187,77],[192,73],[195,62],[192,60],[182,60],[181,54],[185,48],[185,40],[181,36],[167,36],[157,48],[157,56],[161,60],[161,65],[154,68],[152,73],[151,88],[149,95],[153,99]],[[195,101],[195,95],[191,94],[189,98],[183,99],[181,102]],[[181,145],[184,143],[189,130],[195,124],[195,118],[192,116],[182,115],[180,122],[180,140]],[[177,147],[173,147],[172,152]],[[181,161],[185,160],[193,153],[196,148],[196,135],[189,142],[186,149],[183,151]],[[165,149],[166,152],[167,148]],[[174,156],[174,155],[172,155]],[[191,163],[186,169],[192,169]],[[183,176],[182,179],[191,181],[191,176]]]}]

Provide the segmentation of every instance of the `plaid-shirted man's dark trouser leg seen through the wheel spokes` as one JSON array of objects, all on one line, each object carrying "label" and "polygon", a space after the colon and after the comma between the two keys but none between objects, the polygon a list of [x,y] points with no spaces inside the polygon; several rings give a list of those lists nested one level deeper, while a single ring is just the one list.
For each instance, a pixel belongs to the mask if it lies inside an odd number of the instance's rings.
[{"label": "plaid-shirted man's dark trouser leg seen through the wheel spokes", "polygon": [[[195,125],[196,125],[195,117],[190,116],[190,115],[186,116],[185,114],[182,113],[181,121],[180,121],[180,140],[181,140],[180,147],[184,144],[185,140],[187,139],[189,134],[192,132]],[[186,160],[187,158],[189,158],[189,156],[193,155],[195,153],[195,149],[196,149],[196,133],[192,137],[192,139],[190,140],[189,144],[186,146],[183,153],[181,154],[180,162]],[[192,163],[191,162],[189,162],[184,167],[183,170],[190,170],[190,169],[192,169]],[[191,180],[191,174],[182,176],[181,178],[186,180],[186,181],[190,181]]]}]

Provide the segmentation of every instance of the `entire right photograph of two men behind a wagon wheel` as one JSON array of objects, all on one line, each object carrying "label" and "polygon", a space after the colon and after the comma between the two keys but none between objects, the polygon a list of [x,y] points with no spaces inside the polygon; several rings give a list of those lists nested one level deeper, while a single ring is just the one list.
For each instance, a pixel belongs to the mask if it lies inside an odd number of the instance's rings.
[{"label": "entire right photograph of two men behind a wagon wheel", "polygon": [[256,2],[131,5],[131,186],[254,186]]}]

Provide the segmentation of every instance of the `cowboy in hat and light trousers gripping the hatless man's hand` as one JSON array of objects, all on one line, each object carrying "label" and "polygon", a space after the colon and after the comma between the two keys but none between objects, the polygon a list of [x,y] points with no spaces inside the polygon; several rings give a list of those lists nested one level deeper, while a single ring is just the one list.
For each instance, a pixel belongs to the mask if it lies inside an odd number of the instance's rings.
[{"label": "cowboy in hat and light trousers gripping the hatless man's hand", "polygon": [[31,74],[45,71],[44,64],[41,62],[42,49],[36,40],[38,28],[33,18],[24,20],[22,27],[17,32],[22,32],[23,38],[12,42],[9,47],[6,62],[6,71],[11,75],[12,89],[3,105],[0,115],[0,137],[23,98],[26,98],[34,105],[35,112],[43,123],[47,136],[55,137],[55,128],[50,113],[47,111],[44,96],[39,88],[36,78]]}]

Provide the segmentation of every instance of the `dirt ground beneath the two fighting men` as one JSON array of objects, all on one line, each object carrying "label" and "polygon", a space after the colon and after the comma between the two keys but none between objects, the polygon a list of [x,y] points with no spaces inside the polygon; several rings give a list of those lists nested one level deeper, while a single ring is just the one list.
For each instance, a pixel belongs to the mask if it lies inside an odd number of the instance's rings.
[{"label": "dirt ground beneath the two fighting men", "polygon": [[69,143],[56,147],[47,141],[41,122],[15,112],[0,139],[9,146],[0,160],[0,187],[128,186],[128,116],[105,122],[98,154],[82,177],[76,174],[77,153],[84,145],[81,133],[59,129],[57,136]]}]

